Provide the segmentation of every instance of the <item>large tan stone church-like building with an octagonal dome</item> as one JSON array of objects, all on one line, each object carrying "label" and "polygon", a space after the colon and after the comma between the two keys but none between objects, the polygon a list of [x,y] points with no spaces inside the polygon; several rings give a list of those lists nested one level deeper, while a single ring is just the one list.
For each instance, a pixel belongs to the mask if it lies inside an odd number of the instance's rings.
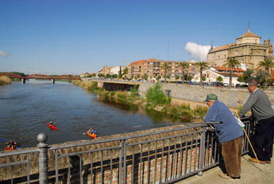
[{"label": "large tan stone church-like building with an octagonal dome", "polygon": [[236,58],[248,69],[256,69],[258,62],[265,58],[273,58],[273,49],[269,39],[260,43],[260,36],[253,34],[248,28],[245,34],[236,38],[236,43],[213,47],[208,52],[210,65],[223,66],[227,58]]}]

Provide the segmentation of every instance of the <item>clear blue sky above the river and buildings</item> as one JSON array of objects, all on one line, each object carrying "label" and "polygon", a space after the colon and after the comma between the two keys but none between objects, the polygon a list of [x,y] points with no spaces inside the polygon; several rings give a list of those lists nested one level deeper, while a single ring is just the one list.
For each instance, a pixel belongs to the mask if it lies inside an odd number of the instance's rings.
[{"label": "clear blue sky above the river and buildings", "polygon": [[0,71],[98,72],[135,60],[201,60],[192,46],[274,42],[274,1],[47,0],[0,2]]}]

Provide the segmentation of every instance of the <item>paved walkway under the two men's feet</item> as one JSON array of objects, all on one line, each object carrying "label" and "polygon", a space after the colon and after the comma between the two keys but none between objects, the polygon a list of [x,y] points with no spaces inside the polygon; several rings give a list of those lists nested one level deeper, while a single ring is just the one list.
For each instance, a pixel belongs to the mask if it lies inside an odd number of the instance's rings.
[{"label": "paved walkway under the two men's feet", "polygon": [[203,172],[203,176],[198,176],[197,174],[179,181],[176,184],[206,184],[206,183],[247,183],[247,184],[269,184],[274,183],[274,159],[272,158],[271,164],[261,164],[263,172],[260,170],[260,165],[258,163],[253,163],[249,161],[249,155],[245,154],[242,156],[242,173],[240,175],[241,179],[239,181],[230,181],[222,179],[218,176],[221,173],[221,168],[216,166],[210,170]]}]

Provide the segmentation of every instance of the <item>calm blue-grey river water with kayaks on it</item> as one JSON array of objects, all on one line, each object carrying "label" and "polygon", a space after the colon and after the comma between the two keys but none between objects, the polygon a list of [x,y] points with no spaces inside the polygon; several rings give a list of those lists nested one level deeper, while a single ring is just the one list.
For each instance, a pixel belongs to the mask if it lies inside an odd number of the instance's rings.
[{"label": "calm blue-grey river water with kayaks on it", "polygon": [[[46,122],[50,121],[58,131],[49,129]],[[83,135],[90,127],[105,136],[179,122],[182,119],[110,100],[69,82],[27,80],[0,86],[0,139],[13,139],[21,148],[36,146],[42,132],[49,137],[47,143],[54,144],[90,139]],[[5,143],[0,146],[5,148]]]}]

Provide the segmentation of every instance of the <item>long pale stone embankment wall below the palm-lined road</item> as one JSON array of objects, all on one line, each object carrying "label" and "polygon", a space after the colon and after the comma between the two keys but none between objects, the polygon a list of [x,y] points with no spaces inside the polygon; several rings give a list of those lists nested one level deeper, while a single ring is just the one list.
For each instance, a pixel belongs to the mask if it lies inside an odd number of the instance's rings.
[{"label": "long pale stone embankment wall below the palm-lined road", "polygon": [[[149,87],[153,87],[153,83],[141,83],[139,87],[139,93],[145,94]],[[173,103],[179,104],[182,102],[190,103],[190,106],[194,104],[201,104],[206,99],[206,95],[214,93],[218,96],[218,100],[226,104],[229,108],[239,108],[247,102],[249,97],[249,91],[247,89],[225,87],[200,87],[198,85],[182,85],[182,84],[162,84],[162,88],[166,93],[169,93],[173,98]],[[274,106],[274,91],[265,91],[269,96],[272,106]]]}]

